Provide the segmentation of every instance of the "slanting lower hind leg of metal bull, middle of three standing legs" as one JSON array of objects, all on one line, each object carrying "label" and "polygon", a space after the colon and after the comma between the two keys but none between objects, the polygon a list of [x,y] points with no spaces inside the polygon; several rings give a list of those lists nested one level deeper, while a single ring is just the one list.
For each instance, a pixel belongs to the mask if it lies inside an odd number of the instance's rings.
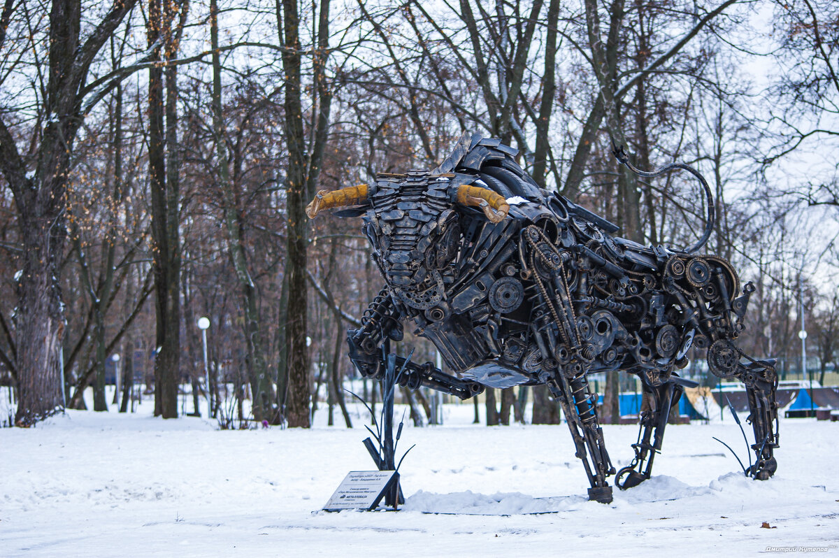
[{"label": "slanting lower hind leg of metal bull, middle of three standing legs", "polygon": [[670,409],[679,403],[685,391],[682,384],[687,382],[684,378],[671,376],[670,381],[654,386],[644,374],[638,376],[644,388],[645,405],[641,411],[638,441],[632,445],[635,457],[632,463],[618,471],[615,478],[615,484],[621,490],[638,486],[652,474],[653,459],[661,451]]}]

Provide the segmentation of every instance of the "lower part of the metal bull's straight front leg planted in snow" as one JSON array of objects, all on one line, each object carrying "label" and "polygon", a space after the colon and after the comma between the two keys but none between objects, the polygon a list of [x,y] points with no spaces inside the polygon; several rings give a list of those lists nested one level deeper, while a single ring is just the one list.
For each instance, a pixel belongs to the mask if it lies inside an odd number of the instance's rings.
[{"label": "lower part of the metal bull's straight front leg planted in snow", "polygon": [[591,482],[588,498],[601,503],[612,502],[612,487],[606,477],[615,474],[615,468],[603,442],[603,430],[597,424],[597,399],[589,391],[585,374],[565,378],[557,371],[547,384],[550,393],[562,405],[565,421],[574,438],[575,455],[586,468]]}]

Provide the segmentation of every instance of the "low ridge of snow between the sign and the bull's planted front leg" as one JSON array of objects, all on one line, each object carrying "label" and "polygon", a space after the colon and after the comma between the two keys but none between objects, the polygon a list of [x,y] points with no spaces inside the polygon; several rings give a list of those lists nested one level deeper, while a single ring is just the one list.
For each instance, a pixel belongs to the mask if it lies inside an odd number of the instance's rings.
[{"label": "low ridge of snow between the sign and the bull's planted front leg", "polygon": [[582,496],[534,498],[522,493],[473,493],[437,494],[423,490],[405,500],[404,510],[427,514],[469,515],[521,515],[550,514],[576,508],[586,502]]}]

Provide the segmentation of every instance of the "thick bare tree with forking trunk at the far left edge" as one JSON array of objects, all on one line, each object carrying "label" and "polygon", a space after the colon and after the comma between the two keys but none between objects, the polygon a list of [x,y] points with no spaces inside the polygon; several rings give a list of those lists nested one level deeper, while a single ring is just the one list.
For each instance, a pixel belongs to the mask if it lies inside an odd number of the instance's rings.
[{"label": "thick bare tree with forking trunk at the far left edge", "polygon": [[[21,119],[10,128],[6,114],[0,115],[0,171],[14,195],[23,242],[15,328],[19,390],[15,421],[20,425],[30,425],[63,404],[60,347],[65,323],[59,277],[73,143],[86,112],[106,94],[91,88],[91,65],[135,2],[113,3],[86,36],[81,34],[81,0],[54,0],[45,22],[33,21],[39,15],[26,3],[7,2],[3,7],[4,65],[20,63],[18,56],[11,55],[18,48],[32,49],[38,72],[34,77],[43,87],[29,92],[29,99],[38,105],[34,121]],[[13,20],[16,33],[10,37]],[[35,23],[29,29],[36,33],[26,32],[27,23]],[[43,39],[49,44],[47,53]],[[3,68],[4,76],[8,70]],[[32,342],[35,339],[43,342]]]}]

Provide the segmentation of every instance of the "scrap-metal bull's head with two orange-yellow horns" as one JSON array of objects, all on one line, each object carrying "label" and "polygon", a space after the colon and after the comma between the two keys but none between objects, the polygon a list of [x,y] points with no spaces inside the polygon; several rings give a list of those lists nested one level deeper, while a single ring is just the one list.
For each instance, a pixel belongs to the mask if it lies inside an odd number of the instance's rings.
[{"label": "scrap-metal bull's head with two orange-yellow horns", "polygon": [[[438,177],[434,184],[439,185],[451,176]],[[399,189],[401,185],[393,183],[393,188]],[[457,206],[480,208],[492,223],[503,221],[510,209],[498,193],[480,185],[463,185],[461,182],[461,185],[448,186],[447,200],[426,196],[425,202],[415,202],[423,214],[415,220],[411,216],[413,211],[400,209],[401,190],[395,197],[376,196],[371,190],[365,184],[331,192],[320,190],[306,206],[306,215],[314,218],[325,209],[367,206],[364,232],[378,252],[385,279],[408,297],[406,302],[418,308],[426,305],[420,300],[427,302],[436,298],[432,291],[442,289],[440,270],[446,268],[457,253],[461,236]],[[416,200],[415,190],[413,193],[412,199]],[[347,211],[338,213],[352,214]],[[414,300],[415,296],[420,298]]]}]

